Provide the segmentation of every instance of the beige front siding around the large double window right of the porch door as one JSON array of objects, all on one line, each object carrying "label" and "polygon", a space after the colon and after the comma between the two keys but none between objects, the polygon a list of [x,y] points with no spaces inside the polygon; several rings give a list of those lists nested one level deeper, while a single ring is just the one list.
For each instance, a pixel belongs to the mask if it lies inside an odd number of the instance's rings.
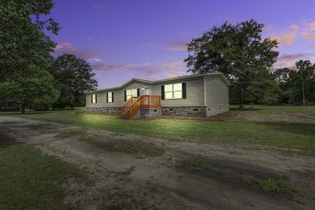
[{"label": "beige front siding around the large double window right of the porch door", "polygon": [[173,83],[186,83],[186,99],[165,99],[162,100],[162,106],[204,106],[204,78],[170,81],[152,85],[152,94],[161,95],[161,85]]}]

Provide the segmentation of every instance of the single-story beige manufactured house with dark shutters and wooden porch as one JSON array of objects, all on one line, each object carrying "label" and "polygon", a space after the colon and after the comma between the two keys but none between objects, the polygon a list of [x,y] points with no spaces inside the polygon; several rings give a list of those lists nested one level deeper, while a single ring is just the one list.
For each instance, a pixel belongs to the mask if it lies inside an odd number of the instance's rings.
[{"label": "single-story beige manufactured house with dark shutters and wooden porch", "polygon": [[223,73],[163,80],[133,78],[119,86],[86,93],[86,111],[127,118],[214,116],[229,111],[230,82]]}]

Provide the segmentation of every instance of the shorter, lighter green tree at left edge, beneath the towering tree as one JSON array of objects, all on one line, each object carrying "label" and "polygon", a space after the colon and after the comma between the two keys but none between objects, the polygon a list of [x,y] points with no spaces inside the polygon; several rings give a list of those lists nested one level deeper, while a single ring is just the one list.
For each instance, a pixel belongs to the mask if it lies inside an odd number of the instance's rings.
[{"label": "shorter, lighter green tree at left edge, beneath the towering tree", "polygon": [[14,99],[22,113],[27,106],[44,107],[55,102],[59,92],[53,87],[54,78],[47,70],[29,65],[15,80],[0,83],[0,96]]}]

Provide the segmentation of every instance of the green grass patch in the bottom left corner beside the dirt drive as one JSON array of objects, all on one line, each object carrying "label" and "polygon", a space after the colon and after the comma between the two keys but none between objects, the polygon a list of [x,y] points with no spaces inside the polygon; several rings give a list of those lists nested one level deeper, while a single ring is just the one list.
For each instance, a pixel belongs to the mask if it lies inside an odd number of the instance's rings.
[{"label": "green grass patch in the bottom left corner beside the dirt drive", "polygon": [[63,204],[66,179],[77,171],[22,145],[0,148],[0,209],[73,209]]}]

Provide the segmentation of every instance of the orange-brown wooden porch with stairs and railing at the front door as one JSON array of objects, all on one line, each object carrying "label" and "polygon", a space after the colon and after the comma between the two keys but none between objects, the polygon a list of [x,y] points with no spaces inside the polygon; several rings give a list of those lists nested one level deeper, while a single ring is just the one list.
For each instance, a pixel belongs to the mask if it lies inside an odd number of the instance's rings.
[{"label": "orange-brown wooden porch with stairs and railing at the front door", "polygon": [[134,118],[140,109],[161,108],[161,97],[158,95],[143,95],[131,97],[120,106],[120,117]]}]

